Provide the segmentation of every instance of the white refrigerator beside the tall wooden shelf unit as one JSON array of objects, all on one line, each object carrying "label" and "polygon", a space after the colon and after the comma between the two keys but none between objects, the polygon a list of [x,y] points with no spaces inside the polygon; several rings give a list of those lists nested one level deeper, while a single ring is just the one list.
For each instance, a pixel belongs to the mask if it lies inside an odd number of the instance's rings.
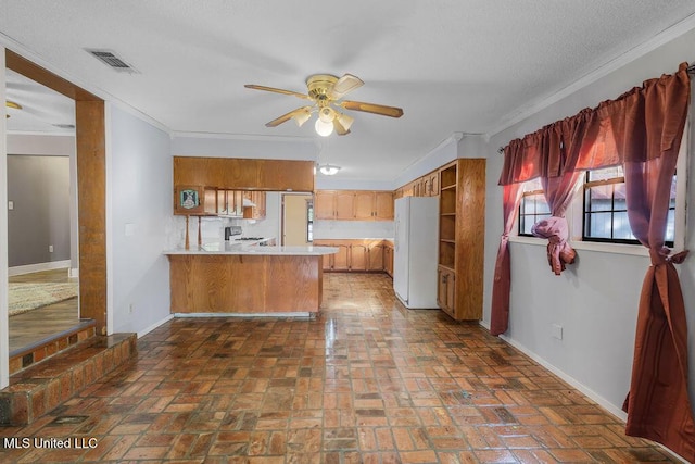
[{"label": "white refrigerator beside the tall wooden shelf unit", "polygon": [[437,309],[439,198],[395,200],[393,290],[408,309]]}]

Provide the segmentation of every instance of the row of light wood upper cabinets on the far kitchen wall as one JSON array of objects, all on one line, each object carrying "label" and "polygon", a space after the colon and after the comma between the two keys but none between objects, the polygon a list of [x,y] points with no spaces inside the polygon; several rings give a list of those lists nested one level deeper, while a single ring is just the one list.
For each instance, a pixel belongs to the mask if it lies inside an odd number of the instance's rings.
[{"label": "row of light wood upper cabinets on the far kitchen wall", "polygon": [[317,220],[393,221],[393,192],[375,190],[317,190]]}]

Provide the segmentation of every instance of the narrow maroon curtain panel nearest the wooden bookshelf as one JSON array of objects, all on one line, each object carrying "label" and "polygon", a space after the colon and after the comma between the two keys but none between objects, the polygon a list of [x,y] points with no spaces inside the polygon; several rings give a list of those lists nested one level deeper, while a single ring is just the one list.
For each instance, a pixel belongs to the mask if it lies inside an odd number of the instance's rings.
[{"label": "narrow maroon curtain panel nearest the wooden bookshelf", "polygon": [[504,186],[502,200],[504,210],[504,233],[500,239],[495,276],[492,281],[492,310],[490,314],[490,333],[500,335],[509,326],[509,291],[511,290],[511,259],[509,255],[509,233],[519,211],[521,184]]}]

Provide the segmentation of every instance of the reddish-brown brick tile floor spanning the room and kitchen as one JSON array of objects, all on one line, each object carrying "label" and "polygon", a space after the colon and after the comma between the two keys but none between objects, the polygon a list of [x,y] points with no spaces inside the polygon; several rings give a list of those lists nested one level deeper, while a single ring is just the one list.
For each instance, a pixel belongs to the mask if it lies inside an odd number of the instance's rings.
[{"label": "reddish-brown brick tile floor spanning the room and kitchen", "polygon": [[324,293],[313,321],[160,326],[130,365],[0,428],[31,441],[0,462],[674,462],[478,324],[404,309],[387,276],[328,274]]}]

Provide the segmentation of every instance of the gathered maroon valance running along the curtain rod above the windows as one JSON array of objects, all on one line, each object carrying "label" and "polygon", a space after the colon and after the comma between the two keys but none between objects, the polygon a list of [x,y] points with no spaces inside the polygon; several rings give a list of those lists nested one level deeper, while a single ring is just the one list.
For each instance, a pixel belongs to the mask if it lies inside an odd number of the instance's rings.
[{"label": "gathered maroon valance running along the curtain rod above the windows", "polygon": [[688,99],[687,63],[682,63],[673,75],[646,80],[595,109],[511,140],[504,149],[498,184],[559,177],[569,171],[647,161],[664,153],[675,155]]}]

